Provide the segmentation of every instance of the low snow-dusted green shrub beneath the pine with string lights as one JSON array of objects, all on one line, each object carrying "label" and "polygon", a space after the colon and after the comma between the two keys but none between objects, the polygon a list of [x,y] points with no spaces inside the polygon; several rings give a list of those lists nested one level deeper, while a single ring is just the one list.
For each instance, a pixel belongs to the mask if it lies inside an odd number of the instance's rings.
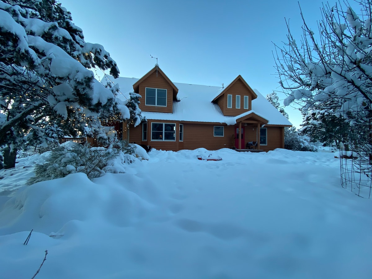
[{"label": "low snow-dusted green shrub beneath the pine with string lights", "polygon": [[54,148],[44,164],[36,165],[35,176],[28,180],[28,184],[65,177],[71,173],[85,173],[89,179],[106,172],[124,173],[125,163],[147,159],[137,155],[136,149],[137,145],[126,141],[115,142],[112,148],[91,147],[89,144],[69,141]]}]

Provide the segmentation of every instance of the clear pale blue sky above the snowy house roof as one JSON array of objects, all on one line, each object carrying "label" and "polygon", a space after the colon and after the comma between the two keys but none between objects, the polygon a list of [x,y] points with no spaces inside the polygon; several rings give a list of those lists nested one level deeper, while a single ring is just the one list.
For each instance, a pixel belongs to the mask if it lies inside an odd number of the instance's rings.
[{"label": "clear pale blue sky above the snowy house roof", "polygon": [[[110,52],[122,77],[142,77],[156,62],[151,54],[173,82],[221,86],[240,74],[264,96],[280,91],[272,42],[282,45],[286,40],[285,18],[296,41],[301,35],[297,0],[61,3],[83,29],[86,42],[102,44]],[[317,30],[321,1],[299,3],[307,24]],[[301,114],[290,107],[285,110],[299,127]]]}]

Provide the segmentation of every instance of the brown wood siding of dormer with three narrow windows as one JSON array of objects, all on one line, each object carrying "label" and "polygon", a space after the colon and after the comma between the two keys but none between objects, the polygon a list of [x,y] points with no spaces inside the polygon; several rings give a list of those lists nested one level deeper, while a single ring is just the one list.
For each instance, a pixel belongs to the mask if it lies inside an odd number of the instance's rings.
[{"label": "brown wood siding of dormer with three narrow windows", "polygon": [[[227,95],[232,95],[232,108],[227,108]],[[236,96],[240,95],[240,109],[236,108]],[[248,96],[248,109],[244,109],[244,96]],[[223,99],[223,100],[221,100]],[[252,94],[241,80],[237,80],[217,101],[225,116],[237,116],[252,108]]]}]

